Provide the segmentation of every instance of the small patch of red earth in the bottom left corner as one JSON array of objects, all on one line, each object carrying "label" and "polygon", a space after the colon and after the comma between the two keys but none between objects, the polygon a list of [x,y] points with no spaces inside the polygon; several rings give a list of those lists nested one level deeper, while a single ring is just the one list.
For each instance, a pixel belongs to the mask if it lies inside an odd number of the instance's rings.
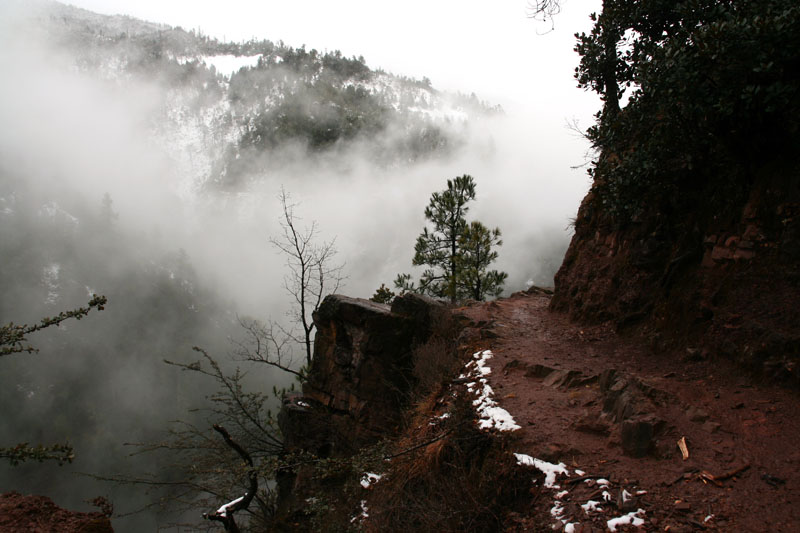
[{"label": "small patch of red earth in the bottom left corner", "polygon": [[78,513],[58,507],[45,496],[0,495],[0,531],[32,533],[112,533],[111,521],[102,513]]}]

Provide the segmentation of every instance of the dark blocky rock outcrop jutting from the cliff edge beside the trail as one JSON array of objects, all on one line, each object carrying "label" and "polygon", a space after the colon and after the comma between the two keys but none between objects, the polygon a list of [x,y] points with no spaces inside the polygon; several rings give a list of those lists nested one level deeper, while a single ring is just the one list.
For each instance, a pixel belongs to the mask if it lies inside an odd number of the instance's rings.
[{"label": "dark blocky rock outcrop jutting from the cliff edge beside the trail", "polygon": [[398,429],[413,384],[413,349],[444,307],[416,294],[390,307],[369,300],[325,298],[314,324],[314,359],[303,393],[286,399],[279,417],[287,449],[321,456],[351,453]]}]

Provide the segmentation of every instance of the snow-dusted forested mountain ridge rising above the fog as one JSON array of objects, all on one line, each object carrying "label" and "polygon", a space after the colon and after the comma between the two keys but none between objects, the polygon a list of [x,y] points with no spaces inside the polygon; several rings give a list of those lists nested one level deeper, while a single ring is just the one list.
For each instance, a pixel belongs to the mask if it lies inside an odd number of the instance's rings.
[{"label": "snow-dusted forested mountain ridge rising above the fog", "polygon": [[222,42],[57,3],[38,17],[76,68],[120,84],[159,81],[162,113],[151,127],[194,176],[193,188],[240,189],[308,155],[330,162],[325,156],[356,150],[379,165],[441,157],[481,117],[502,112],[474,93],[441,92],[338,50]]}]

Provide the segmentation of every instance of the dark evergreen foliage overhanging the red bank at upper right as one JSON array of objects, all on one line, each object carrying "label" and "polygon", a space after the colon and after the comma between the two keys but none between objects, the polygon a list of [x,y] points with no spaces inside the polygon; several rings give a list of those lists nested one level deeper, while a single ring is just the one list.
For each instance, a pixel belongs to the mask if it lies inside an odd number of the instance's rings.
[{"label": "dark evergreen foliage overhanging the red bank at upper right", "polygon": [[588,136],[595,189],[618,222],[701,199],[724,207],[797,146],[796,2],[605,0],[593,20],[577,36],[576,78],[604,101]]}]

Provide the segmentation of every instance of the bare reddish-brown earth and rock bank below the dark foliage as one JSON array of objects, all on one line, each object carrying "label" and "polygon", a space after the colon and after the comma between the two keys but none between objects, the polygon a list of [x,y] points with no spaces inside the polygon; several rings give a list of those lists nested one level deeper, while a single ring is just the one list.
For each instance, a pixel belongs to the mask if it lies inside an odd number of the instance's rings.
[{"label": "bare reddish-brown earth and rock bank below the dark foliage", "polygon": [[800,383],[797,174],[763,170],[725,213],[654,209],[624,225],[590,191],[551,308],[634,328],[659,351],[698,349]]}]

